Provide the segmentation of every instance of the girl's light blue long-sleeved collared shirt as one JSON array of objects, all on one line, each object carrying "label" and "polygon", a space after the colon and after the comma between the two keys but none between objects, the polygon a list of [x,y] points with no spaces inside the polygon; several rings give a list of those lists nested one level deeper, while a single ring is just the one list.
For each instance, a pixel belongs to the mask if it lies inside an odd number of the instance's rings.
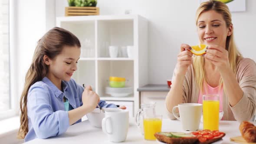
[{"label": "girl's light blue long-sleeved collared shirt", "polygon": [[[48,138],[63,134],[69,128],[69,115],[65,111],[63,97],[69,101],[69,106],[78,108],[82,105],[84,88],[75,83],[62,81],[63,92],[60,91],[48,78],[33,84],[27,97],[27,115],[29,131],[25,142],[35,138]],[[117,108],[114,104],[98,103],[100,107]],[[76,123],[81,122],[76,121]]]}]

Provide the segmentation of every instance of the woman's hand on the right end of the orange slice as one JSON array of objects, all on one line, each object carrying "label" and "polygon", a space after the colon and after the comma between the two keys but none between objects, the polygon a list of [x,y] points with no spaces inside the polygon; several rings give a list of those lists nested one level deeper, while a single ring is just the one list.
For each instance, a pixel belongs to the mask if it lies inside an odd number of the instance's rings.
[{"label": "woman's hand on the right end of the orange slice", "polygon": [[204,58],[213,63],[220,71],[230,67],[228,52],[222,46],[209,45],[207,46]]}]

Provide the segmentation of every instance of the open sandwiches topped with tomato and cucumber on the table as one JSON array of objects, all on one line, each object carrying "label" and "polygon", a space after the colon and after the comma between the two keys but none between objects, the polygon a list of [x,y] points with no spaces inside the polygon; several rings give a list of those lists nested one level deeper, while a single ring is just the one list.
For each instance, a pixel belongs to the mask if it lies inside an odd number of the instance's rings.
[{"label": "open sandwiches topped with tomato and cucumber on the table", "polygon": [[188,134],[181,132],[158,132],[154,136],[166,144],[211,144],[219,141],[226,134],[220,131],[194,131]]}]

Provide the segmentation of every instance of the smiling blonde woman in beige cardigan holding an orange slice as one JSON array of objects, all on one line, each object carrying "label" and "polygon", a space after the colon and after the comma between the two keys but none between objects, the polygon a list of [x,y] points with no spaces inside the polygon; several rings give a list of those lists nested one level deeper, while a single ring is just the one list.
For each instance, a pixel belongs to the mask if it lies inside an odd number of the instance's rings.
[{"label": "smiling blonde woman in beige cardigan holding an orange slice", "polygon": [[202,103],[202,95],[218,94],[223,120],[249,121],[256,107],[256,64],[243,58],[233,41],[231,14],[225,3],[201,3],[196,13],[197,34],[206,54],[193,56],[181,44],[172,87],[166,97],[170,118],[180,103]]}]

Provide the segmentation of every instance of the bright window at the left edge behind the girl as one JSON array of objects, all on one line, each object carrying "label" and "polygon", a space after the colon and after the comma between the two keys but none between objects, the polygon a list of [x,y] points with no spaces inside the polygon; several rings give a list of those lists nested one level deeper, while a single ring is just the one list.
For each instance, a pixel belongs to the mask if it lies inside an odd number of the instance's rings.
[{"label": "bright window at the left edge behind the girl", "polygon": [[0,120],[18,114],[16,0],[0,0]]}]

